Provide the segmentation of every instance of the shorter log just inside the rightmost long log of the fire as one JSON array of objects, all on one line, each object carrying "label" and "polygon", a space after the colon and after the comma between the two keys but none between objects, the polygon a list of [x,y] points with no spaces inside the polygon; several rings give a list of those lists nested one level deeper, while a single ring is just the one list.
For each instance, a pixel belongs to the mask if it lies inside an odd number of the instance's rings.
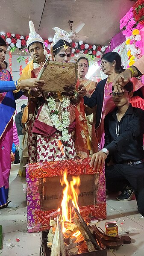
[{"label": "shorter log just inside the rightmost long log of the fire", "polygon": [[86,242],[86,245],[88,247],[88,251],[89,252],[96,251],[95,248],[94,248],[94,245],[90,241],[90,238],[89,238],[87,232],[85,232],[84,228],[82,227],[82,224],[80,223],[79,219],[78,218],[74,218],[74,222],[76,223],[76,226],[78,227],[79,231],[81,232],[81,234],[85,238],[85,242]]}]

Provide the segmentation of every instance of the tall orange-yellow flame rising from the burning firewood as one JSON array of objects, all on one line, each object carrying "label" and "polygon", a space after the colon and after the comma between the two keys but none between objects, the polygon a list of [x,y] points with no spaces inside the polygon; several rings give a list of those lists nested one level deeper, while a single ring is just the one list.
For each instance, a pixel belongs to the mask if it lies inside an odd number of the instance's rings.
[{"label": "tall orange-yellow flame rising from the burning firewood", "polygon": [[[63,178],[60,180],[61,185],[65,184],[65,188],[63,189],[63,198],[61,203],[62,208],[62,232],[64,233],[67,229],[65,228],[65,221],[71,222],[72,218],[72,206],[76,207],[79,211],[78,206],[78,195],[79,195],[79,186],[80,186],[80,178],[79,176],[73,176],[70,182],[67,179],[68,171],[65,169]],[[76,188],[74,187],[76,186]]]}]

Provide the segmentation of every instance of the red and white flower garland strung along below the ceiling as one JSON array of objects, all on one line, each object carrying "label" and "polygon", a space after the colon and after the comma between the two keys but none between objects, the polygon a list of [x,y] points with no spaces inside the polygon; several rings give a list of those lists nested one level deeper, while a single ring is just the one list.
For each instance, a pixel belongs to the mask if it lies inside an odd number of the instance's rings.
[{"label": "red and white flower garland strung along below the ceiling", "polygon": [[[14,52],[17,48],[22,52],[27,52],[26,49],[26,41],[29,38],[29,35],[25,37],[19,34],[11,34],[6,32],[0,32],[0,36],[7,42],[8,50]],[[53,38],[48,38],[44,41],[47,54],[50,54],[50,44],[53,42]],[[71,56],[78,57],[79,54],[88,54],[91,56],[91,59],[96,57],[97,59],[101,57],[101,54],[104,53],[108,46],[100,46],[100,45],[91,45],[84,44],[83,41],[72,42],[72,53]]]}]

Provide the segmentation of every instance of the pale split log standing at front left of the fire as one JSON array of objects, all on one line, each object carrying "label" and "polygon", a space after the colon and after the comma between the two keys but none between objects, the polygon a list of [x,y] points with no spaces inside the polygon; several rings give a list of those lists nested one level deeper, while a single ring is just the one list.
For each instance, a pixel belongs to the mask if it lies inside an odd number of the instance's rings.
[{"label": "pale split log standing at front left of the fire", "polygon": [[56,225],[56,231],[53,237],[50,256],[60,256],[60,241],[59,241],[59,224]]}]

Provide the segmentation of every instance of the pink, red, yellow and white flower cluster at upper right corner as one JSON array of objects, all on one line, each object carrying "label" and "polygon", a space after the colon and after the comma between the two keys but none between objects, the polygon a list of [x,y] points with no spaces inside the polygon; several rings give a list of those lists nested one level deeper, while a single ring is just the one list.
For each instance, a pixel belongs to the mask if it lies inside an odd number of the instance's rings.
[{"label": "pink, red, yellow and white flower cluster at upper right corner", "polygon": [[120,29],[126,37],[129,66],[141,57],[140,29],[144,26],[144,0],[138,0],[120,20]]}]

